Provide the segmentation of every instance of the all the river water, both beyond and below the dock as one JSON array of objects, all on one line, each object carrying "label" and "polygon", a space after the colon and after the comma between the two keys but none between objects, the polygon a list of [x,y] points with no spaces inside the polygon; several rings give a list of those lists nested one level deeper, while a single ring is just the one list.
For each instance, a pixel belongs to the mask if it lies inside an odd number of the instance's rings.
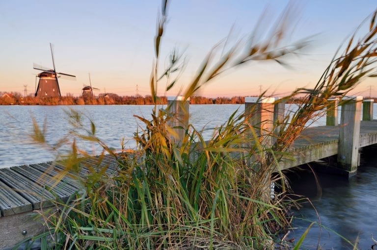
[{"label": "all the river water, both beyond and below the dock", "polygon": [[[42,127],[46,121],[46,141],[53,146],[59,139],[69,138],[66,111],[74,109],[84,114],[83,123],[87,128],[90,128],[89,119],[94,122],[96,135],[110,148],[120,149],[121,138],[125,139],[126,148],[134,148],[134,132],[143,126],[134,115],[150,120],[152,108],[151,105],[0,106],[0,168],[54,160],[56,152],[51,147],[42,147],[31,140],[32,118]],[[190,105],[190,123],[197,129],[203,128],[205,139],[209,139],[212,129],[225,123],[237,108],[243,111],[244,106]],[[374,111],[377,118],[376,104]],[[313,123],[324,124],[324,118]],[[101,152],[96,144],[79,141],[78,145],[93,154]],[[321,222],[323,227],[315,225],[309,231],[304,241],[306,249],[317,249],[317,246],[320,249],[352,249],[337,233],[352,242],[358,237],[358,249],[371,249],[372,234],[377,238],[376,155],[363,152],[357,175],[350,180],[317,173],[321,189],[317,188],[310,171],[292,175],[296,193],[309,197],[316,210],[304,203],[295,212],[301,219],[294,220],[295,228],[287,237],[297,240],[310,222]]]}]

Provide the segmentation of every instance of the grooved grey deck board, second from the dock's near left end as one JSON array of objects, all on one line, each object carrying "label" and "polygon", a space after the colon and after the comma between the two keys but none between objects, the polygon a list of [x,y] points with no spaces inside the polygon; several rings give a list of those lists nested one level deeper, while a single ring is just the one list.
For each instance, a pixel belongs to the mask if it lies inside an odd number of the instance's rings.
[{"label": "grooved grey deck board, second from the dock's near left end", "polygon": [[0,169],[0,180],[28,200],[33,209],[51,206],[55,199],[44,187],[8,168]]}]

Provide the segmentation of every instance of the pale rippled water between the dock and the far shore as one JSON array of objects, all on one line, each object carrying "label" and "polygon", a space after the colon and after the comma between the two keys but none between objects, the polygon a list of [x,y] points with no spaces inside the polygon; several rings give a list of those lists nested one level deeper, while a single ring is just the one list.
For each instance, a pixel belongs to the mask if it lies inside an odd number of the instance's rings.
[{"label": "pale rippled water between the dock and the far shore", "polygon": [[[142,123],[138,115],[150,119],[152,105],[87,105],[87,106],[0,106],[0,168],[45,162],[54,159],[54,152],[32,142],[32,118],[42,127],[46,122],[47,141],[54,145],[66,136],[71,128],[66,111],[74,109],[84,114],[83,123],[90,128],[89,119],[96,126],[97,136],[108,147],[120,149],[125,138],[128,148],[135,147],[134,132]],[[211,128],[226,122],[227,118],[243,105],[191,105],[190,123],[204,128],[204,136],[212,135]],[[100,152],[95,144],[80,144],[85,150]]]}]

